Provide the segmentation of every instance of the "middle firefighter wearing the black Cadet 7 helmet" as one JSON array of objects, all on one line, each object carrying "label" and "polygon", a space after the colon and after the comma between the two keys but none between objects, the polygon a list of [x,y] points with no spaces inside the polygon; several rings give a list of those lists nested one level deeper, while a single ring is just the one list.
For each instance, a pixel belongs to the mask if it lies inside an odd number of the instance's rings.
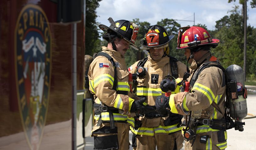
[{"label": "middle firefighter wearing the black Cadet 7 helmet", "polygon": [[[142,46],[140,47],[149,52],[147,58],[128,68],[130,73],[136,73],[137,76],[136,95],[146,97],[150,106],[155,106],[157,96],[171,92],[165,91],[166,87],[160,85],[163,80],[171,81],[173,77],[182,78],[186,72],[186,65],[168,55],[168,43],[173,37],[174,35],[168,36],[168,32],[162,26],[149,27],[146,36],[141,40]],[[182,127],[179,127],[182,117],[182,115],[167,111],[163,115],[155,111],[146,114],[143,118],[140,117],[141,127],[138,129],[131,127],[134,133],[134,149],[155,150],[156,147],[158,150],[181,149],[184,141],[181,133]]]}]

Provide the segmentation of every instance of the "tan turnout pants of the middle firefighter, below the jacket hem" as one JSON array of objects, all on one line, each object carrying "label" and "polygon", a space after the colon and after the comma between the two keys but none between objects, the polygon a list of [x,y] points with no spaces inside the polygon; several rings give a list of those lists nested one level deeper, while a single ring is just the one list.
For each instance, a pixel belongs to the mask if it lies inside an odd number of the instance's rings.
[{"label": "tan turnout pants of the middle firefighter, below the jacket hem", "polygon": [[[137,136],[137,147],[134,150],[173,150],[174,147],[177,150],[183,147],[184,137],[181,131],[168,134],[154,134],[154,136]],[[176,142],[176,146],[175,145]]]}]

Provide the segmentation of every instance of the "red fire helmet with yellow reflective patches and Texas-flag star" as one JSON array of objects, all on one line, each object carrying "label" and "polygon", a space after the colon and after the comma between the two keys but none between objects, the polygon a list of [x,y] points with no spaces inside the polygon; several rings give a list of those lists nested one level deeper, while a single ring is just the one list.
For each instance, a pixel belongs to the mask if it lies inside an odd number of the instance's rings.
[{"label": "red fire helmet with yellow reflective patches and Texas-flag star", "polygon": [[201,27],[181,27],[178,34],[177,49],[193,48],[203,45],[212,45],[216,47],[220,40],[212,38],[210,34]]}]

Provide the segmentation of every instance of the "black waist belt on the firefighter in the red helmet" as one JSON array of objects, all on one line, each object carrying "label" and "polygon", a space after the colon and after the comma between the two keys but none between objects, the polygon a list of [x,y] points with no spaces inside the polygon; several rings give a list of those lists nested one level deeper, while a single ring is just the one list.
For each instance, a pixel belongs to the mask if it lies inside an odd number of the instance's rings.
[{"label": "black waist belt on the firefighter in the red helmet", "polygon": [[226,119],[199,119],[197,120],[198,125],[207,125],[212,129],[226,130]]}]

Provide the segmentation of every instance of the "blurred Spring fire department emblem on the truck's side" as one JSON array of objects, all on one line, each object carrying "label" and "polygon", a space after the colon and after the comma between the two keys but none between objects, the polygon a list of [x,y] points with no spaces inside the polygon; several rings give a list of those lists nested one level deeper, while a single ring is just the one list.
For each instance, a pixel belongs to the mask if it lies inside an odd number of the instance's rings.
[{"label": "blurred Spring fire department emblem on the truck's side", "polygon": [[38,150],[51,83],[51,31],[45,12],[26,5],[15,27],[15,74],[19,112],[31,150]]}]

